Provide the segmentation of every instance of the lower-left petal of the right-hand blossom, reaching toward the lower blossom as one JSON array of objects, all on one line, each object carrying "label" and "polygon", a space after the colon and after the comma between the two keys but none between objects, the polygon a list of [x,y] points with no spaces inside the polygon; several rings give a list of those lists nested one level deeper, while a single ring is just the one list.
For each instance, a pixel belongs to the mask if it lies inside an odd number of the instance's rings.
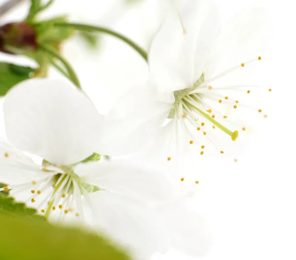
[{"label": "lower-left petal of the right-hand blossom, reaching toward the lower blossom", "polygon": [[[166,99],[164,99],[166,98]],[[100,153],[126,155],[139,150],[158,132],[171,109],[174,96],[157,94],[153,85],[135,87],[123,95],[106,117]]]}]

